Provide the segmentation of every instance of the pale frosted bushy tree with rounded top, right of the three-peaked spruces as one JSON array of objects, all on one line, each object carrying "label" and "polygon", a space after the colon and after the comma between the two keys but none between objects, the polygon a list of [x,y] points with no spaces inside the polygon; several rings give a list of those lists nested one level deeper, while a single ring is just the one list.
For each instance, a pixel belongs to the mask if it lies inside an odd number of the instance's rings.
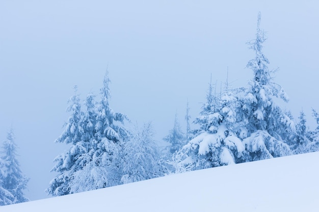
[{"label": "pale frosted bushy tree with rounded top, right of the three-peaked spruces", "polygon": [[159,150],[150,123],[135,132],[123,145],[121,181],[123,184],[161,176]]}]

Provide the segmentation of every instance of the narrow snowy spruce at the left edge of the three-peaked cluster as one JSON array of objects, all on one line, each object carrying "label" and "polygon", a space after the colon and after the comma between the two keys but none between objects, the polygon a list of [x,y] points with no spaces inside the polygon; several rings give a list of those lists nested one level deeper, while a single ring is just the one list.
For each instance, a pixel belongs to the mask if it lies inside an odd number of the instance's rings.
[{"label": "narrow snowy spruce at the left edge of the three-peaked cluster", "polygon": [[53,196],[62,196],[70,193],[70,180],[75,171],[82,169],[79,166],[78,157],[81,156],[85,149],[83,146],[82,136],[84,134],[82,129],[82,112],[79,95],[76,94],[77,87],[74,86],[74,95],[69,99],[67,112],[71,112],[68,122],[65,124],[65,129],[59,138],[55,140],[56,143],[70,144],[68,150],[58,155],[55,158],[56,165],[51,171],[58,172],[57,176],[53,178],[49,187],[46,189],[47,194]]}]

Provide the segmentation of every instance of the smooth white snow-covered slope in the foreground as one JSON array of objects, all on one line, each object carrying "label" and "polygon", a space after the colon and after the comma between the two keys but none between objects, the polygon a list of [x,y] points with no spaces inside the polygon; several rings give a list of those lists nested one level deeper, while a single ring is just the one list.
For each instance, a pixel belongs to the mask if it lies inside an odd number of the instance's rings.
[{"label": "smooth white snow-covered slope in the foreground", "polygon": [[319,153],[175,174],[0,211],[318,211]]}]

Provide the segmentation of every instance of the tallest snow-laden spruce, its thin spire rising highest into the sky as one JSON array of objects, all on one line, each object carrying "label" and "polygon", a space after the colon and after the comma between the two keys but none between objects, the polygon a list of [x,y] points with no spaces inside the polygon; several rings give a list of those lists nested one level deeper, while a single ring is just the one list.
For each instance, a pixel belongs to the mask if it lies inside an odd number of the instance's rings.
[{"label": "tallest snow-laden spruce, its thin spire rising highest into the sky", "polygon": [[269,60],[262,53],[265,40],[264,32],[260,29],[259,13],[256,39],[248,43],[255,52],[255,58],[247,64],[254,77],[244,97],[240,99],[240,115],[244,125],[241,134],[254,161],[290,155],[289,145],[293,144],[291,134],[296,133],[294,122],[274,101],[278,98],[287,102],[288,98],[271,77],[274,71],[268,69]]}]

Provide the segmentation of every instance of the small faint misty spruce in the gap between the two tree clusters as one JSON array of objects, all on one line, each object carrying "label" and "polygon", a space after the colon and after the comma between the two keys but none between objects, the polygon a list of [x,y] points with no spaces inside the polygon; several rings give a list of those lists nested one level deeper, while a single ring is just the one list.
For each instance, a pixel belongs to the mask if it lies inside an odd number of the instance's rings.
[{"label": "small faint misty spruce in the gap between the two tree clusters", "polygon": [[175,113],[175,120],[174,120],[174,127],[170,130],[169,134],[163,138],[163,140],[169,142],[170,146],[170,153],[175,153],[178,151],[185,142],[185,136],[180,129],[180,125],[177,119],[177,113]]}]

